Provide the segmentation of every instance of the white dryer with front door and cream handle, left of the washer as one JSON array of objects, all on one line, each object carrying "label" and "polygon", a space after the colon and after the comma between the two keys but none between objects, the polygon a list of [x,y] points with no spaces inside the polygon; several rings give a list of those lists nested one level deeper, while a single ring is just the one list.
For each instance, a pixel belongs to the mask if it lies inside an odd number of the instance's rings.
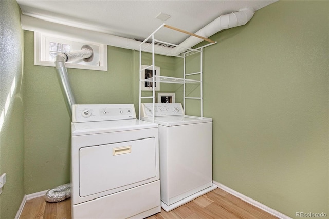
[{"label": "white dryer with front door and cream handle, left of the washer", "polygon": [[158,124],[133,104],[73,105],[72,218],[144,218],[161,211]]}]

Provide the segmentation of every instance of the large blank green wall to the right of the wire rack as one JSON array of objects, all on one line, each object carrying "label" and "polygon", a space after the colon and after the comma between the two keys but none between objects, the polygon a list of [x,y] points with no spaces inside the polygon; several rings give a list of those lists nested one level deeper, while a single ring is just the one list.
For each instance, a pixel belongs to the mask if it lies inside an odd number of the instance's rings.
[{"label": "large blank green wall to the right of the wire rack", "polygon": [[328,1],[279,1],[204,52],[214,180],[290,217],[329,215],[328,24]]}]

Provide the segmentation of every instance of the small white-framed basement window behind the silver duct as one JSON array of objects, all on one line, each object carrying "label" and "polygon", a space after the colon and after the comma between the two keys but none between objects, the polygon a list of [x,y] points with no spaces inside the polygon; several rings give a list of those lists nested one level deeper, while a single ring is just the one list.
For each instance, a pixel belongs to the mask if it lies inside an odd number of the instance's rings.
[{"label": "small white-framed basement window behind the silver duct", "polygon": [[107,71],[107,45],[37,32],[34,32],[34,65],[55,66],[54,61],[58,53],[78,51],[84,45],[92,47],[93,59],[89,62],[85,62],[83,59],[66,62],[65,66],[67,68]]}]

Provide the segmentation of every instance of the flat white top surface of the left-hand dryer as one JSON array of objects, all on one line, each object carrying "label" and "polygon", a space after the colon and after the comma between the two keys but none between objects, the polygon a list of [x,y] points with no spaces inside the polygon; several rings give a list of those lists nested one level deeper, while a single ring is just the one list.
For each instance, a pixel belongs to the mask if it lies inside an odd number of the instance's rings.
[{"label": "flat white top surface of the left-hand dryer", "polygon": [[158,127],[158,124],[156,123],[137,119],[72,123],[72,136],[120,132],[156,127]]}]

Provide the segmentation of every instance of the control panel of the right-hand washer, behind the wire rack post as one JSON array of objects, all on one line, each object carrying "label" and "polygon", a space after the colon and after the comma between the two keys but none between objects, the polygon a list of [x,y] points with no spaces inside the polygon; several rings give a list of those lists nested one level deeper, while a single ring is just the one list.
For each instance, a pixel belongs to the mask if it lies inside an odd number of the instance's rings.
[{"label": "control panel of the right-hand washer, behind the wire rack post", "polygon": [[[141,117],[152,117],[152,103],[142,103]],[[154,116],[184,115],[181,103],[155,103]]]}]

